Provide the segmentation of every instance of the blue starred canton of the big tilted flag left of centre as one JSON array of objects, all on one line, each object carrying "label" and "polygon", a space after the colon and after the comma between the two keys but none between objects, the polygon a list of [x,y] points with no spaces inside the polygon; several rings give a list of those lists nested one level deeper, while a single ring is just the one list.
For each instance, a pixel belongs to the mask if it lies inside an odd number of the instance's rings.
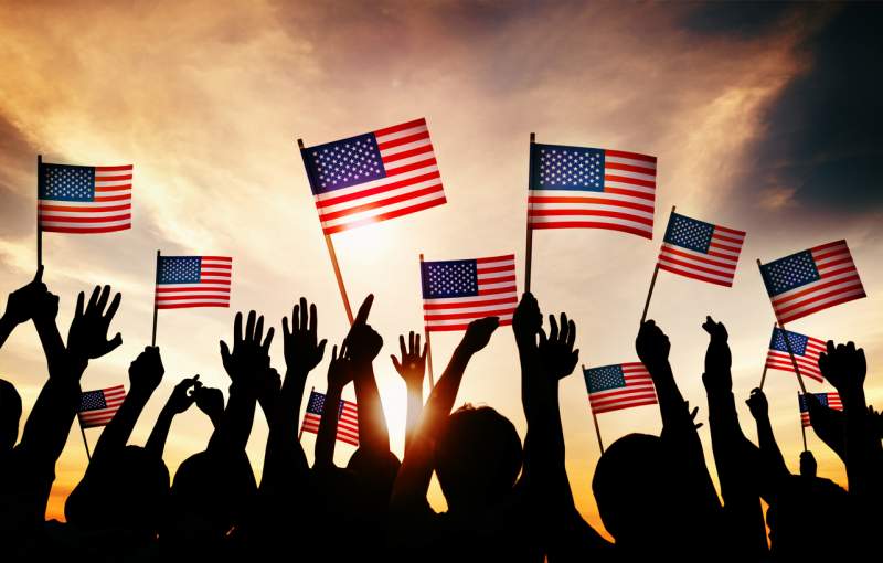
[{"label": "blue starred canton of the big tilted flag left of centre", "polygon": [[373,132],[317,145],[302,153],[315,195],[386,177]]}]

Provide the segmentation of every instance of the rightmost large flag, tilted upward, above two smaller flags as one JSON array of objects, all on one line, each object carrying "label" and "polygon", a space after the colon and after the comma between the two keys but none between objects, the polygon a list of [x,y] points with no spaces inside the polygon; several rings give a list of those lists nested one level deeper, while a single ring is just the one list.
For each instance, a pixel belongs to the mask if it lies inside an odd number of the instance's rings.
[{"label": "rightmost large flag, tilted upward, above two smaller flags", "polygon": [[760,274],[780,323],[865,296],[845,241],[763,264]]}]

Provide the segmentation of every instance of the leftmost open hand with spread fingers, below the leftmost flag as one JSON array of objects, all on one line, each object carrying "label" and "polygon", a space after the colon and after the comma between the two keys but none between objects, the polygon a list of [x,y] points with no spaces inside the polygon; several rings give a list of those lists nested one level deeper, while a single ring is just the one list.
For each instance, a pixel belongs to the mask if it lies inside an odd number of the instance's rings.
[{"label": "leftmost open hand with spread fingers, below the leftmost flag", "polygon": [[120,294],[116,294],[108,306],[109,297],[110,286],[104,288],[96,286],[85,306],[85,294],[81,291],[77,296],[76,312],[67,332],[67,350],[74,357],[86,361],[94,360],[114,351],[123,343],[123,336],[119,332],[113,339],[107,339],[110,321],[114,320],[121,299]]}]

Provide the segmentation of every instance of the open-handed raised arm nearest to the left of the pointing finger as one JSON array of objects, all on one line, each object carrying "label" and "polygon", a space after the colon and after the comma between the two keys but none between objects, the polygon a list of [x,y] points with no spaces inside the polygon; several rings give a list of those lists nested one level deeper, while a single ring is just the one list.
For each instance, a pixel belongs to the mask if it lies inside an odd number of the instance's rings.
[{"label": "open-handed raised arm nearest to the left of the pointing finger", "polygon": [[283,486],[295,476],[306,479],[309,467],[300,440],[297,439],[297,427],[307,375],[325,355],[326,340],[319,341],[318,321],[316,306],[308,307],[302,297],[291,309],[290,330],[288,319],[283,318],[286,372],[275,412],[267,413],[269,436],[262,489],[269,485]]}]

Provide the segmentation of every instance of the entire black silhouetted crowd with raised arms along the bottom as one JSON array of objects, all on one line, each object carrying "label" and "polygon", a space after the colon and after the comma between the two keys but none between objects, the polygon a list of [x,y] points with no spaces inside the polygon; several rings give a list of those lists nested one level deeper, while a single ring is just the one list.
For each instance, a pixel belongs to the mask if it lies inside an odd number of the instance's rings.
[{"label": "entire black silhouetted crowd with raised arms along the bottom", "polygon": [[[702,382],[720,496],[705,464],[696,408],[683,400],[669,363],[669,339],[645,322],[635,348],[650,372],[662,415],[659,436],[630,434],[602,455],[592,480],[600,517],[615,542],[595,531],[574,506],[564,464],[558,382],[578,361],[576,326],[565,314],[543,317],[524,294],[512,330],[521,367],[528,431],[490,406],[455,408],[471,358],[498,329],[489,317],[469,325],[424,402],[426,347],[400,337],[393,364],[407,387],[404,459],[390,437],[374,378],[383,339],[368,322],[373,298],[349,334],[333,347],[326,405],[353,383],[358,450],[347,467],[333,463],[338,411],[326,407],[309,466],[298,439],[307,375],[326,353],[315,305],[301,298],[283,319],[285,374],[270,363],[274,328],[252,311],[236,315],[232,343],[220,351],[230,376],[220,390],[198,378],[178,383],[143,446],[129,438],[162,381],[159,348],[129,367],[129,390],[105,426],[79,484],[65,504],[66,522],[46,521],[55,464],[79,405],[89,362],[121,343],[108,339],[120,304],[108,286],[79,294],[66,341],[56,326],[58,298],[33,282],[12,293],[0,319],[0,346],[33,321],[49,380],[17,444],[22,402],[0,380],[0,561],[874,561],[883,533],[883,422],[864,396],[865,359],[852,342],[828,343],[819,359],[843,411],[807,395],[812,427],[845,464],[849,490],[817,476],[812,454],[800,474],[788,470],[760,390],[747,399],[757,445],[736,415],[726,328],[711,317]],[[406,341],[407,340],[407,341]],[[471,376],[488,378],[488,374]],[[494,373],[502,389],[514,373]],[[681,375],[689,376],[689,375]],[[162,460],[175,415],[193,404],[214,432],[203,452],[174,476]],[[245,453],[255,412],[269,433],[257,479]],[[448,510],[427,502],[433,472]],[[584,489],[586,482],[575,482]],[[764,508],[766,507],[766,512]]]}]

